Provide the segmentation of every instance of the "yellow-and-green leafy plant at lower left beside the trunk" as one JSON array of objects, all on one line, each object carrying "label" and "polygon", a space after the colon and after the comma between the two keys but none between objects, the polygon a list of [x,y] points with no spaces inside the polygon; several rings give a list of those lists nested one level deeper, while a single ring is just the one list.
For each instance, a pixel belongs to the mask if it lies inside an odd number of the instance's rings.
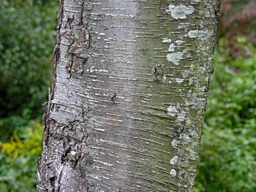
[{"label": "yellow-and-green leafy plant at lower left beside the trunk", "polygon": [[1,191],[36,191],[36,164],[42,151],[42,125],[31,121],[23,134],[14,131],[10,142],[0,143]]}]

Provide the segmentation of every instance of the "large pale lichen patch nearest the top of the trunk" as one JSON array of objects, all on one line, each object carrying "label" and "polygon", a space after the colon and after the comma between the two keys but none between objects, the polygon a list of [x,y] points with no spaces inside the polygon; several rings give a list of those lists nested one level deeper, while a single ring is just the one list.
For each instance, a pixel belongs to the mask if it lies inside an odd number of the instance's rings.
[{"label": "large pale lichen patch nearest the top of the trunk", "polygon": [[195,9],[191,5],[186,6],[184,4],[178,5],[177,7],[170,4],[169,9],[166,9],[166,12],[170,12],[170,15],[176,19],[185,19],[187,15],[191,15],[194,11]]}]

